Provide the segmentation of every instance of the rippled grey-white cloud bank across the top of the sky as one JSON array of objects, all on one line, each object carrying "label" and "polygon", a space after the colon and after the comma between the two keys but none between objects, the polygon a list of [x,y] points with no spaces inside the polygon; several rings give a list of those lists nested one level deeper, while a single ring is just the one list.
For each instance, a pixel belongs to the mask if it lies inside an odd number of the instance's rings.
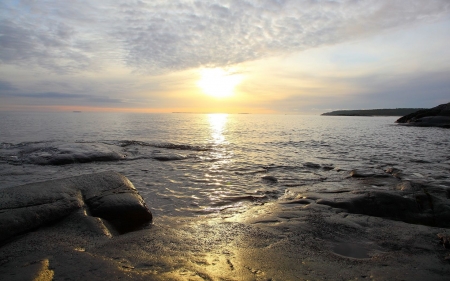
[{"label": "rippled grey-white cloud bank across the top of the sky", "polygon": [[448,0],[12,1],[0,62],[56,73],[108,63],[161,73],[222,67],[448,14]]}]

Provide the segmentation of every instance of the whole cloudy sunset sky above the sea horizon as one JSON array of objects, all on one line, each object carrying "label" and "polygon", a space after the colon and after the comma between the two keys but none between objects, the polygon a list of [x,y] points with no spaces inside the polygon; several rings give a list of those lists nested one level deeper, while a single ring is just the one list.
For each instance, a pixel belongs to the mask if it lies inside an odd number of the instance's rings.
[{"label": "whole cloudy sunset sky above the sea horizon", "polygon": [[0,110],[430,108],[449,46],[449,0],[2,0]]}]

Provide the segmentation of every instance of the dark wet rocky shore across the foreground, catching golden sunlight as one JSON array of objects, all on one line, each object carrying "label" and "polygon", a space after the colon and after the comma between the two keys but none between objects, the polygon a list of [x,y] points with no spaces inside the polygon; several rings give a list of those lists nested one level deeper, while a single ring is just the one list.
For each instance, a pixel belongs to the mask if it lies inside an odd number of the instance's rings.
[{"label": "dark wet rocky shore across the foreground, catching golden sunlight", "polygon": [[[151,206],[150,206],[151,207]],[[450,187],[391,168],[154,218],[114,172],[0,189],[2,280],[446,280]]]}]

